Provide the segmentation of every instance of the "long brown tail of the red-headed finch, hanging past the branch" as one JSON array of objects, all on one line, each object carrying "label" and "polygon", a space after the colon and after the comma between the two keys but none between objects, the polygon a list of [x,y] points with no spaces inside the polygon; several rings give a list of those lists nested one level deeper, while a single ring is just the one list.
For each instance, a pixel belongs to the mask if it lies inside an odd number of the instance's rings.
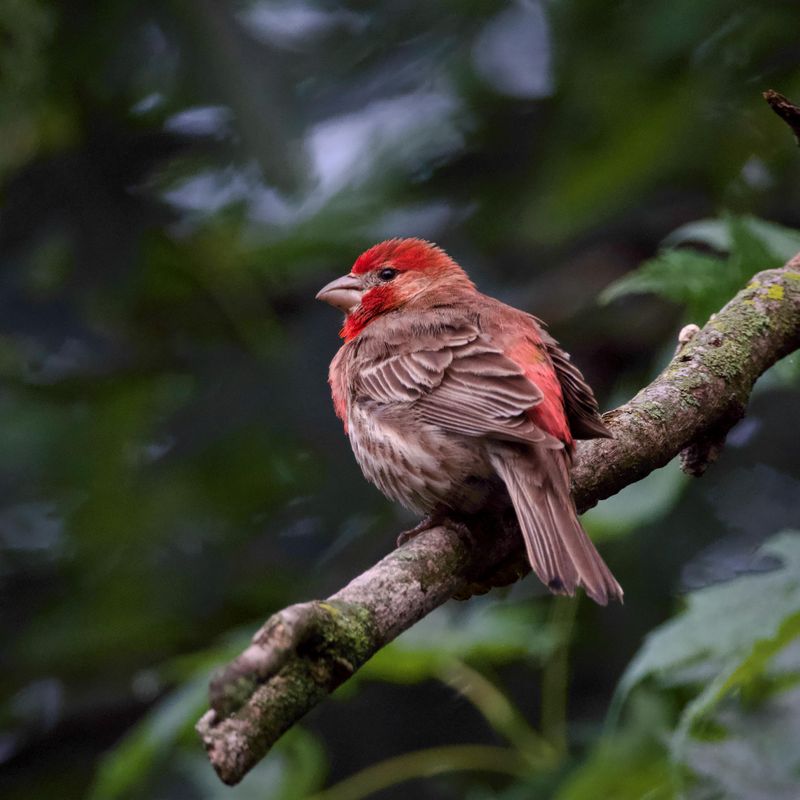
[{"label": "long brown tail of the red-headed finch, hanging past the branch", "polygon": [[570,495],[569,456],[564,450],[510,448],[491,456],[511,497],[533,571],[556,594],[583,586],[600,605],[622,601],[622,587],[578,521]]}]

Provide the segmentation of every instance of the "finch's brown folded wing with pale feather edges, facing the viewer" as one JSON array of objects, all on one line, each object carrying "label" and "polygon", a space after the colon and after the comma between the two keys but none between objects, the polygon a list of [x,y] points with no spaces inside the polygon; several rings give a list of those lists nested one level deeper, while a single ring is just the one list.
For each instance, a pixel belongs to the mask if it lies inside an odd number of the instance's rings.
[{"label": "finch's brown folded wing with pale feather edges, facing the viewer", "polygon": [[444,327],[358,377],[356,399],[409,404],[420,422],[465,436],[561,447],[535,421],[543,392],[476,326]]}]

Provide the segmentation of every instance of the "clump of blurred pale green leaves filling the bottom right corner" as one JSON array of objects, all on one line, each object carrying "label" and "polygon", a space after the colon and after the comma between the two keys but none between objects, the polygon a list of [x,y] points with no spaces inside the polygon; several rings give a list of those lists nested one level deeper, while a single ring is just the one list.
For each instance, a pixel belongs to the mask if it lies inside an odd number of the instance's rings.
[{"label": "clump of blurred pale green leaves filling the bottom right corner", "polygon": [[617,690],[630,713],[559,798],[796,796],[800,533],[763,554],[778,566],[692,592],[648,635]]}]

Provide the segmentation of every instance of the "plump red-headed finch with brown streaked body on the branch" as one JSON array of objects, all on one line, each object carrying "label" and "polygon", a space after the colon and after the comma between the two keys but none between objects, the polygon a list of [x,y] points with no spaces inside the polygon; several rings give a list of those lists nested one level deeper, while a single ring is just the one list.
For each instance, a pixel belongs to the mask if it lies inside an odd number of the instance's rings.
[{"label": "plump red-headed finch with brown streaked body on the branch", "polygon": [[535,317],[481,294],[420,239],[375,245],[317,298],[346,315],[336,414],[367,480],[428,515],[415,530],[474,513],[502,484],[551,591],[622,599],[570,495],[573,440],[610,434]]}]

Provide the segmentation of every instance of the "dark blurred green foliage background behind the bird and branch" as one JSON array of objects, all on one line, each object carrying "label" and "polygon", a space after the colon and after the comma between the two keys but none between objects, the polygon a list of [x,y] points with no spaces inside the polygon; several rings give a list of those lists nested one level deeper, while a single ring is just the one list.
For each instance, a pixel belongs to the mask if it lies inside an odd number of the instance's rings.
[{"label": "dark blurred green foliage background behind the bird and branch", "polygon": [[192,731],[260,621],[410,521],[334,418],[316,290],[435,240],[624,402],[800,250],[761,98],[800,99],[798,31],[795,0],[4,0],[0,794],[800,796],[796,357],[705,477],[586,516],[623,607],[451,601],[233,790]]}]

